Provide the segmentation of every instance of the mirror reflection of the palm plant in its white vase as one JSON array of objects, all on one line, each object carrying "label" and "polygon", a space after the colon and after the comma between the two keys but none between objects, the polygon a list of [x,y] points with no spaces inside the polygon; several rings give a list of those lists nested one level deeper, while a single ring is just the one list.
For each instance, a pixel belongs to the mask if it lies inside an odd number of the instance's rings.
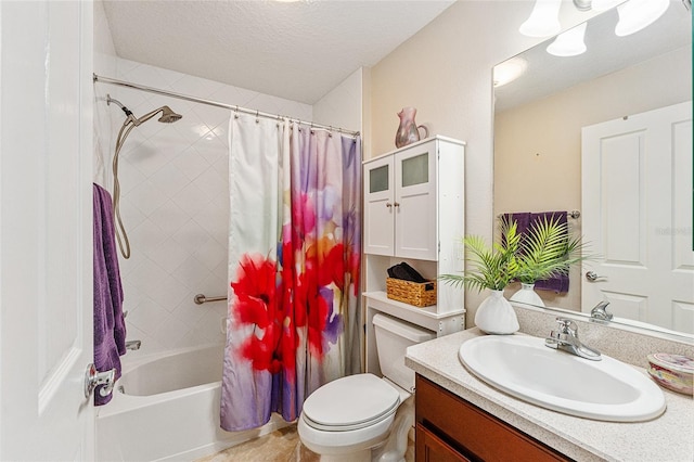
[{"label": "mirror reflection of the palm plant in its white vase", "polygon": [[583,248],[581,238],[569,235],[566,222],[557,217],[536,220],[520,239],[515,274],[520,290],[511,296],[511,301],[544,306],[535,292],[535,283],[568,274],[571,265],[588,258]]}]

